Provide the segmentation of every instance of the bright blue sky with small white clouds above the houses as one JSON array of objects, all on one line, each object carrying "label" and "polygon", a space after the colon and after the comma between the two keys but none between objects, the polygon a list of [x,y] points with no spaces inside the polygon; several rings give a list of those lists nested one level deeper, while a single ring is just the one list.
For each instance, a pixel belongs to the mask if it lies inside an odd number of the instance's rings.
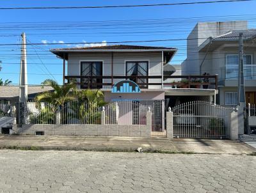
[{"label": "bright blue sky with small white clouds above the houses", "polygon": [[[147,1],[1,1],[0,8],[44,6],[108,6],[122,4],[159,4],[204,0]],[[256,1],[216,4],[190,4],[140,8],[67,9],[67,10],[0,10],[0,79],[19,84],[20,34],[26,33],[28,45],[28,84],[40,84],[45,79],[62,83],[62,63],[49,49],[60,47],[111,45],[108,42],[186,39],[200,21],[248,20],[256,28]],[[47,45],[47,43],[74,43]],[[88,43],[89,42],[89,43]],[[101,43],[90,43],[101,42]],[[129,43],[131,44],[131,43]],[[176,47],[179,51],[172,64],[186,59],[186,40],[132,43]]]}]

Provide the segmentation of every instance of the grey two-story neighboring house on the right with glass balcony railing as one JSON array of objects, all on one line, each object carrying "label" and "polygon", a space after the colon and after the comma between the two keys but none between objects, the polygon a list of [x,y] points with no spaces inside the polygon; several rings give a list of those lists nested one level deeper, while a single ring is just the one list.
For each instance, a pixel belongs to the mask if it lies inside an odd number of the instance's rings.
[{"label": "grey two-story neighboring house on the right with glass balcony railing", "polygon": [[198,22],[188,36],[182,75],[218,74],[221,105],[237,105],[239,33],[244,40],[246,103],[256,102],[256,29],[246,21]]}]

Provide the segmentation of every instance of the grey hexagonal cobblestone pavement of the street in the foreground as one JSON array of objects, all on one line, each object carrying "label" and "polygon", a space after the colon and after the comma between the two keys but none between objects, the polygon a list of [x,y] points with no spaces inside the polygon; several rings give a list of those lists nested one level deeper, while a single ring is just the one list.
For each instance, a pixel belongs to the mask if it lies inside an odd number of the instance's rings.
[{"label": "grey hexagonal cobblestone pavement of the street in the foreground", "polygon": [[256,157],[0,151],[0,192],[256,192]]}]

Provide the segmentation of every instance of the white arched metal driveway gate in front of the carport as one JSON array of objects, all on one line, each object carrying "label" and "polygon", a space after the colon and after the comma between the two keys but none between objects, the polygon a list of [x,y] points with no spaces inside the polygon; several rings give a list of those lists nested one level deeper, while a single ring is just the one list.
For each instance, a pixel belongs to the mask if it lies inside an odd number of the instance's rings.
[{"label": "white arched metal driveway gate in front of the carport", "polygon": [[229,137],[232,108],[195,101],[173,108],[173,137],[225,139]]}]

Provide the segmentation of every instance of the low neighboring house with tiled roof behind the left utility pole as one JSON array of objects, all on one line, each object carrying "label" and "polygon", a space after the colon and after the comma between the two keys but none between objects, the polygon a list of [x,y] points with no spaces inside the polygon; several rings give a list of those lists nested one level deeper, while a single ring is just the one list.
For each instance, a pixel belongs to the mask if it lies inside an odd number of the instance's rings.
[{"label": "low neighboring house with tiled roof behind the left utility pole", "polygon": [[[50,86],[28,86],[28,100],[33,100],[36,95],[44,91],[50,91]],[[0,103],[15,104],[19,102],[19,86],[0,86]]]}]

